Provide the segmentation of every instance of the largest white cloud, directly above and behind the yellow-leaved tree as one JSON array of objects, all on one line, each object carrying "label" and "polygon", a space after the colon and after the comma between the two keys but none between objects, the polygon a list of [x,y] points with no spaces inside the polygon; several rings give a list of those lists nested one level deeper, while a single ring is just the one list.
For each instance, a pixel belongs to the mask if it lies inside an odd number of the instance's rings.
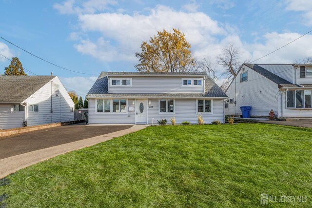
[{"label": "largest white cloud, directly above and behind the yellow-leaved tree", "polygon": [[156,6],[148,15],[86,14],[79,15],[78,21],[83,32],[100,32],[102,38],[96,42],[82,40],[75,44],[76,49],[107,62],[135,60],[134,53],[140,50],[142,41],[148,41],[163,29],[179,28],[192,44],[192,49],[207,47],[217,41],[214,36],[226,35],[218,22],[204,13],[175,11],[166,6]]}]

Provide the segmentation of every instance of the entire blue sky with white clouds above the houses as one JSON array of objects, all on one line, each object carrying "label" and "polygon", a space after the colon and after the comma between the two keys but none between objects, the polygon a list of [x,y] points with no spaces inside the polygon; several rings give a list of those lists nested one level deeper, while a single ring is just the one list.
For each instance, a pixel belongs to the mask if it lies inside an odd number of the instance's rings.
[{"label": "entire blue sky with white clouds above the houses", "polygon": [[[84,96],[101,71],[135,71],[141,42],[162,29],[179,28],[195,58],[215,62],[234,43],[243,60],[255,60],[312,29],[312,0],[0,0],[0,19],[1,37],[87,74],[1,39],[0,54],[19,57],[37,75],[53,72]],[[312,56],[312,33],[257,62],[306,56]],[[0,74],[7,65],[0,56]]]}]

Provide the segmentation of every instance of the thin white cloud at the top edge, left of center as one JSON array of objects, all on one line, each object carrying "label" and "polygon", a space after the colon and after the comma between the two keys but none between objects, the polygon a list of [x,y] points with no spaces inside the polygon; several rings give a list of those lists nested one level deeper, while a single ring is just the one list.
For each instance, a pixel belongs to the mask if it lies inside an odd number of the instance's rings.
[{"label": "thin white cloud at the top edge, left of center", "polygon": [[[79,4],[81,6],[78,6]],[[65,0],[62,3],[55,3],[53,7],[60,14],[93,14],[96,11],[108,9],[109,5],[115,4],[117,4],[116,0],[87,0],[85,2],[81,2],[80,0]]]}]

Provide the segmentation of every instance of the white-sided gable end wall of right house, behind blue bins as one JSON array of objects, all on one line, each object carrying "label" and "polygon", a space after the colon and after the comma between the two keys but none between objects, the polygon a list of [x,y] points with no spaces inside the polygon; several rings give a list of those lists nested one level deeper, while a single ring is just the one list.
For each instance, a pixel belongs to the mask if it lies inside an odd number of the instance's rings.
[{"label": "white-sided gable end wall of right house, behind blue bins", "polygon": [[239,72],[239,76],[236,76],[226,91],[229,99],[234,99],[234,102],[236,101],[236,105],[234,103],[229,103],[228,108],[225,109],[225,114],[239,116],[241,115],[239,106],[243,105],[252,106],[250,112],[251,116],[268,116],[271,109],[277,114],[278,106],[275,98],[275,96],[278,96],[277,84],[249,67],[244,67],[245,70],[248,71],[248,82],[240,82],[241,72]]}]

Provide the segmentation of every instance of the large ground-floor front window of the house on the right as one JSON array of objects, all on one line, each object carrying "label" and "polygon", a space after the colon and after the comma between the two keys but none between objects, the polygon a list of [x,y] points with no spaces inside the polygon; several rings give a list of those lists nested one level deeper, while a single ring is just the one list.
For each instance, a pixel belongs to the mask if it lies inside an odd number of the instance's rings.
[{"label": "large ground-floor front window of the house on the right", "polygon": [[289,90],[286,93],[287,108],[312,108],[312,90]]}]

